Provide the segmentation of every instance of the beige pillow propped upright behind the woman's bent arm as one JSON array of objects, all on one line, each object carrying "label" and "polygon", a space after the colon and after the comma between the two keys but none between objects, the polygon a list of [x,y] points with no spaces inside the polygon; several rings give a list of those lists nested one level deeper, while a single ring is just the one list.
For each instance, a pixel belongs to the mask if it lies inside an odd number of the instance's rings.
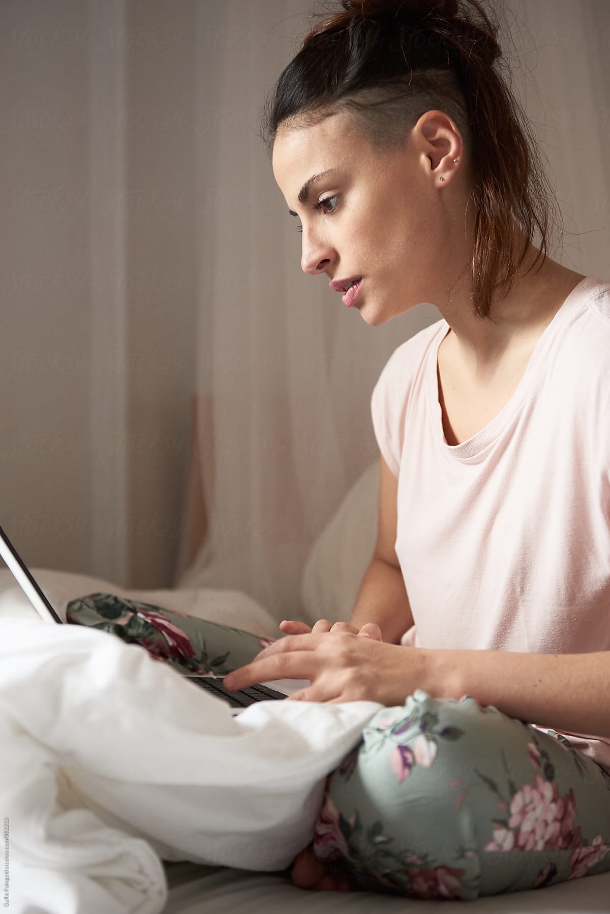
[{"label": "beige pillow propped upright behind the woman's bent arm", "polygon": [[301,580],[304,622],[348,622],[377,542],[380,460],[359,477],[317,538]]}]

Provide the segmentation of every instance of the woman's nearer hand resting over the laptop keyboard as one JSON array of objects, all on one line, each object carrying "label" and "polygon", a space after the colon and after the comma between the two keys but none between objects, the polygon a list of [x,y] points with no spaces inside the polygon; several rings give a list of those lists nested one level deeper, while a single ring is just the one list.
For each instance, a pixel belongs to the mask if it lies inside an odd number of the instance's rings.
[{"label": "woman's nearer hand resting over the laptop keyboard", "polygon": [[225,676],[225,687],[232,690],[273,679],[309,679],[311,685],[287,700],[378,701],[382,705],[402,705],[414,689],[427,690],[431,652],[387,644],[367,633],[337,632],[332,638],[327,634],[305,632],[280,638],[251,664]]}]

